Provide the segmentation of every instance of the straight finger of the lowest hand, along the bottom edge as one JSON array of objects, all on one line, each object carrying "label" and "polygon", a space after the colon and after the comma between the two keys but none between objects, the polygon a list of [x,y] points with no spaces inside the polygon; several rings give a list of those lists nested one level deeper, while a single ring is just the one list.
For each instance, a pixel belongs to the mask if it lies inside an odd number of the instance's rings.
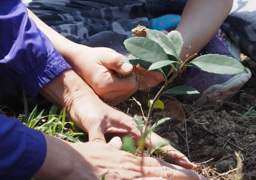
[{"label": "straight finger of the lowest hand, along the bottom edge", "polygon": [[168,180],[207,180],[193,170],[177,170],[170,167],[142,167],[145,177],[163,177]]}]

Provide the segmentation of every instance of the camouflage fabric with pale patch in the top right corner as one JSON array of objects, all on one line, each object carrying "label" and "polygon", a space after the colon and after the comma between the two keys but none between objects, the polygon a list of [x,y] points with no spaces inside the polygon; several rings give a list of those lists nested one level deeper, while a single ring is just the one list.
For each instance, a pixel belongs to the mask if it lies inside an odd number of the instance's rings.
[{"label": "camouflage fabric with pale patch in the top right corner", "polygon": [[256,0],[234,0],[222,27],[241,51],[256,61]]}]

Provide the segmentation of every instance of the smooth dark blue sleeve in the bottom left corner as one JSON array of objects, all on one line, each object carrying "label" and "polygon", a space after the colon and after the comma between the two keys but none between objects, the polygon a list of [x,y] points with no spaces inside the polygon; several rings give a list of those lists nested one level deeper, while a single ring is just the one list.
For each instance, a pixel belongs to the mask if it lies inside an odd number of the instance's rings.
[{"label": "smooth dark blue sleeve in the bottom left corner", "polygon": [[42,132],[0,114],[0,180],[30,180],[46,158]]}]

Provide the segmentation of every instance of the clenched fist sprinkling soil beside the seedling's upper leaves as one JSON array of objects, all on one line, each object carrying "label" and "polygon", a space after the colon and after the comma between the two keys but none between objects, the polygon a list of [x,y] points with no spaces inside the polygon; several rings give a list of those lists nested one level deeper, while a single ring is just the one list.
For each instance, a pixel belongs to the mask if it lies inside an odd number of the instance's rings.
[{"label": "clenched fist sprinkling soil beside the seedling's upper leaves", "polygon": [[133,66],[121,62],[123,55],[110,48],[77,48],[80,49],[70,65],[102,100],[115,105],[138,90]]}]

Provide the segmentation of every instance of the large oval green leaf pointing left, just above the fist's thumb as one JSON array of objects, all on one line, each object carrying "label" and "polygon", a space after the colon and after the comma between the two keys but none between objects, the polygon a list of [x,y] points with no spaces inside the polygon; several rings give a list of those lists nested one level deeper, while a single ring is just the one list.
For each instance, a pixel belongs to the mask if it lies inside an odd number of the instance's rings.
[{"label": "large oval green leaf pointing left, just above the fist's thumb", "polygon": [[135,57],[151,63],[169,60],[164,49],[148,38],[135,37],[126,39],[125,48]]}]

